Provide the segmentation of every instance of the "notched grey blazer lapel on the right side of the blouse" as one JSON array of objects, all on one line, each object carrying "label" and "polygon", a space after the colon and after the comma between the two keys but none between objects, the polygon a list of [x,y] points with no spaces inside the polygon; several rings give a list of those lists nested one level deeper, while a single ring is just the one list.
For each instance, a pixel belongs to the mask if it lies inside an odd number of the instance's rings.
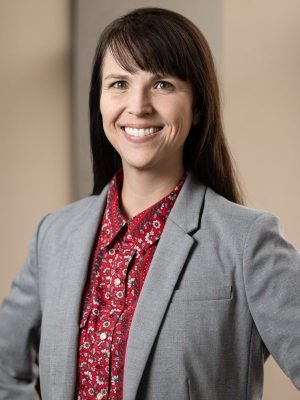
[{"label": "notched grey blazer lapel on the right side of the blouse", "polygon": [[168,217],[133,316],[126,348],[124,400],[136,398],[142,374],[174,287],[194,244],[206,187],[187,177]]}]

